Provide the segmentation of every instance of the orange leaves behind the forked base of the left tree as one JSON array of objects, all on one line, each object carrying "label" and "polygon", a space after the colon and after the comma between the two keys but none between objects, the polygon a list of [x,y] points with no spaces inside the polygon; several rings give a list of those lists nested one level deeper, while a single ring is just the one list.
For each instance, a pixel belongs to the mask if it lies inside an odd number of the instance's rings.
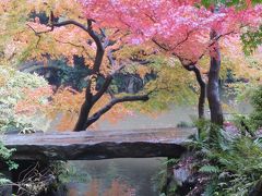
[{"label": "orange leaves behind the forked base of the left tree", "polygon": [[[79,93],[70,87],[58,89],[58,91],[51,97],[51,102],[48,107],[46,107],[45,112],[50,119],[53,119],[58,115],[61,118],[59,124],[57,125],[58,131],[73,130],[78,120],[80,107],[84,102],[84,98],[85,89],[83,89],[82,93]],[[91,115],[97,112],[109,101],[110,96],[105,94],[92,108]],[[116,123],[117,121],[130,114],[132,114],[132,112],[124,108],[123,105],[119,103],[105,113],[102,117],[102,120]],[[92,124],[90,128],[95,127],[97,127],[96,123]]]}]

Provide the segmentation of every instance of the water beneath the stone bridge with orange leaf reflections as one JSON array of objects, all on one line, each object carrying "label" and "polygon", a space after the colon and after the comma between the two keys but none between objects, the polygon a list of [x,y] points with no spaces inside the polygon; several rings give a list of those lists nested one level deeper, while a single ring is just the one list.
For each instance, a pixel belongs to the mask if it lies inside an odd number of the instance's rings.
[{"label": "water beneath the stone bridge with orange leaf reflections", "polygon": [[[136,195],[158,196],[156,175],[165,158],[107,159],[92,161],[70,161],[79,171],[86,172],[87,183],[69,183],[69,195]],[[98,188],[94,187],[97,186]],[[114,194],[112,194],[114,193]],[[118,193],[118,194],[117,194]]]}]

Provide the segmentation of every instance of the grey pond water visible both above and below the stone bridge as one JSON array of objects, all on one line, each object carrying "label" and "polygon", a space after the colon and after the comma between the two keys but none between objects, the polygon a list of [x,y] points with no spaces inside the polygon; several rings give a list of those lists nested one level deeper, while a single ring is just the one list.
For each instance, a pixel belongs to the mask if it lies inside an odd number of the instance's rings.
[{"label": "grey pond water visible both above and below the stone bridge", "polygon": [[[157,118],[136,114],[117,124],[103,122],[99,130],[136,130],[175,127],[181,121],[190,122],[196,115],[192,108],[174,107]],[[188,135],[188,133],[184,133]],[[159,177],[166,158],[146,159],[107,159],[88,161],[69,161],[80,179],[86,182],[68,183],[70,196],[158,196]]]}]

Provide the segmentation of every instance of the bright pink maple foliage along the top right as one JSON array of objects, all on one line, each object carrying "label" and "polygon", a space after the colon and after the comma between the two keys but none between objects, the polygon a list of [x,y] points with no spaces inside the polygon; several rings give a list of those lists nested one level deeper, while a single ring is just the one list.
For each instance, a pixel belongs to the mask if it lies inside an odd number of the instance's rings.
[{"label": "bright pink maple foliage along the top right", "polygon": [[79,0],[87,19],[96,26],[129,32],[130,44],[157,40],[171,53],[195,62],[210,52],[210,32],[226,37],[243,27],[262,24],[262,5],[243,10],[219,8],[218,12],[203,7],[200,0]]}]

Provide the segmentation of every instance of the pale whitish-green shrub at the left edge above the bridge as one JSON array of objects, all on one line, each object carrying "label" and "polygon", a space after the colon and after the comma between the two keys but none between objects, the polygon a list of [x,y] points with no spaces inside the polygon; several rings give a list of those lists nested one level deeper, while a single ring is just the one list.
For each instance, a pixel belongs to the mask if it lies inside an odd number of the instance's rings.
[{"label": "pale whitish-green shrub at the left edge above the bridge", "polygon": [[44,86],[48,84],[43,77],[0,66],[0,132],[34,128],[33,121],[28,117],[16,114],[14,107],[23,100],[23,89]]}]

